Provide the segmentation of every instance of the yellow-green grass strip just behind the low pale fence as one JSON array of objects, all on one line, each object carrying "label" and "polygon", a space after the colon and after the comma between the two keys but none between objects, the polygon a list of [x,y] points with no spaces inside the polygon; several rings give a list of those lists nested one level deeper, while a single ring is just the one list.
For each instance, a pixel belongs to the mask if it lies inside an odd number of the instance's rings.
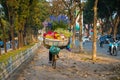
[{"label": "yellow-green grass strip just behind the low pale fence", "polygon": [[34,44],[30,44],[30,45],[27,45],[27,46],[24,46],[20,49],[16,49],[16,50],[11,50],[11,51],[8,51],[7,53],[5,54],[2,54],[0,56],[0,62],[5,62],[6,60],[8,60],[11,57],[15,57],[17,54],[20,54],[21,52],[27,50],[28,48],[31,48]]}]

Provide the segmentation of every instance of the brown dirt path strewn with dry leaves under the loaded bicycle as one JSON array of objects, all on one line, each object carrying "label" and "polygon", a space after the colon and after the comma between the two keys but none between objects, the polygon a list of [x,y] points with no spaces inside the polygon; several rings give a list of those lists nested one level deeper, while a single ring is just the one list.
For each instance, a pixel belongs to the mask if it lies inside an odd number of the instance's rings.
[{"label": "brown dirt path strewn with dry leaves under the loaded bicycle", "polygon": [[[60,51],[56,69],[48,63],[48,49],[41,46],[34,59],[24,64],[8,80],[109,80],[120,78],[113,67],[119,60],[100,58],[92,62],[89,55]],[[113,64],[114,63],[114,64]],[[120,72],[120,71],[119,71]]]}]

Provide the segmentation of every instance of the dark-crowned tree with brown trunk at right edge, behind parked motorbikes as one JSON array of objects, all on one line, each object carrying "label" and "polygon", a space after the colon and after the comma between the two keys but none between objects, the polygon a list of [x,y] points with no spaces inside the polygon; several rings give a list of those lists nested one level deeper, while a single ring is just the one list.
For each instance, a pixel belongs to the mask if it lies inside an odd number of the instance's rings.
[{"label": "dark-crowned tree with brown trunk at right edge, behind parked motorbikes", "polygon": [[[108,28],[108,33],[113,34],[114,39],[116,39],[116,34],[118,32],[117,28],[120,21],[119,3],[120,0],[113,0],[113,1],[101,0],[98,4],[99,16],[105,18],[106,20],[105,24],[107,24],[106,28]],[[101,5],[102,7],[104,7],[104,9],[101,7]],[[113,17],[115,14],[116,16]]]}]

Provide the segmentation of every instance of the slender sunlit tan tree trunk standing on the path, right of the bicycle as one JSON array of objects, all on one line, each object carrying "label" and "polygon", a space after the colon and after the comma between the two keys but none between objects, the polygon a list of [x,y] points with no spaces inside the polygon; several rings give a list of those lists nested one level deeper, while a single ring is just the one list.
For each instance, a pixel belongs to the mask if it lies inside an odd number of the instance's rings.
[{"label": "slender sunlit tan tree trunk standing on the path, right of the bicycle", "polygon": [[98,4],[98,0],[95,0],[95,4],[94,4],[94,25],[93,25],[93,55],[92,55],[92,60],[96,60],[96,50],[97,50],[97,47],[96,47],[96,35],[97,35],[97,32],[96,32],[96,23],[97,23],[97,4]]}]

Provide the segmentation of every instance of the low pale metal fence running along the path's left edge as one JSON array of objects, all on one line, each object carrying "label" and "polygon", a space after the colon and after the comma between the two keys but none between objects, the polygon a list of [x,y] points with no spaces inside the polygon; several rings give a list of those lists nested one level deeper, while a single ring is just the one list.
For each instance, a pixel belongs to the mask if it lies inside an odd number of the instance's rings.
[{"label": "low pale metal fence running along the path's left edge", "polygon": [[35,44],[33,47],[27,49],[14,57],[9,57],[5,62],[0,63],[0,80],[6,80],[11,73],[13,73],[23,62],[31,59],[34,56],[34,51],[38,49],[41,43]]}]

